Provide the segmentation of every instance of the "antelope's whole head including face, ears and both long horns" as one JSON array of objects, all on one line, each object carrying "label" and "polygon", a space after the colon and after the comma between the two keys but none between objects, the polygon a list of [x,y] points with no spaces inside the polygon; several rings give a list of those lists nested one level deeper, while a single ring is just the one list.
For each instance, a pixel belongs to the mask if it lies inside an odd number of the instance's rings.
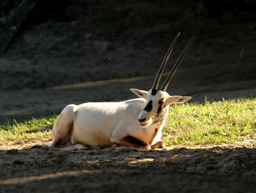
[{"label": "antelope's whole head including face, ears and both long horns", "polygon": [[184,58],[184,55],[187,53],[187,50],[192,44],[192,41],[195,37],[192,37],[192,39],[190,39],[186,48],[184,48],[184,50],[182,51],[181,56],[179,56],[179,58],[177,59],[176,64],[173,66],[173,69],[170,71],[170,74],[166,77],[165,82],[162,84],[162,87],[158,89],[160,78],[162,77],[162,73],[164,72],[167,60],[173,50],[173,47],[179,35],[180,33],[177,34],[176,38],[170,45],[170,48],[167,51],[167,54],[165,55],[161,66],[159,67],[152,88],[149,91],[142,91],[136,88],[130,89],[140,98],[146,99],[146,105],[140,112],[140,115],[138,117],[138,123],[143,128],[151,124],[163,121],[165,119],[165,115],[170,104],[187,102],[189,99],[192,98],[191,96],[170,96],[169,94],[167,94],[166,89],[170,83],[170,80],[173,78],[173,75],[181,64],[182,58]]}]

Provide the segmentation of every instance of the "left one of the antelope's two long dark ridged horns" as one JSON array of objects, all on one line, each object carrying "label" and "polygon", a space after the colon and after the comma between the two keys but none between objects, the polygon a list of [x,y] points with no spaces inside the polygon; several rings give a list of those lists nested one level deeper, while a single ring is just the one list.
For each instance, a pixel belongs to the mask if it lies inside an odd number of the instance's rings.
[{"label": "left one of the antelope's two long dark ridged horns", "polygon": [[172,53],[173,47],[174,47],[174,45],[175,45],[175,43],[176,43],[176,41],[177,41],[177,39],[178,39],[180,34],[181,34],[181,32],[178,32],[178,34],[176,35],[175,39],[173,39],[173,42],[171,43],[170,48],[167,51],[167,53],[165,55],[165,58],[162,61],[161,66],[159,67],[159,70],[157,72],[157,76],[155,77],[154,83],[153,83],[153,86],[152,86],[152,91],[151,91],[152,95],[157,94],[157,88],[158,88],[158,85],[159,85],[160,78],[162,77],[162,72],[164,72],[164,69],[165,69],[167,61],[169,59],[170,53]]}]

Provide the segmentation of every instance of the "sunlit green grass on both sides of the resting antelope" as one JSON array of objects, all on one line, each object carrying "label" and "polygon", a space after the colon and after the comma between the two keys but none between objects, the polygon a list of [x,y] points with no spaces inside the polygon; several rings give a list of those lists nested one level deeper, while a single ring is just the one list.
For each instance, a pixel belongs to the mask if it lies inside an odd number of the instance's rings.
[{"label": "sunlit green grass on both sides of the resting antelope", "polygon": [[[0,120],[0,144],[10,140],[27,143],[51,135],[57,116]],[[233,99],[205,104],[171,105],[163,128],[167,145],[234,143],[256,132],[256,99]]]}]

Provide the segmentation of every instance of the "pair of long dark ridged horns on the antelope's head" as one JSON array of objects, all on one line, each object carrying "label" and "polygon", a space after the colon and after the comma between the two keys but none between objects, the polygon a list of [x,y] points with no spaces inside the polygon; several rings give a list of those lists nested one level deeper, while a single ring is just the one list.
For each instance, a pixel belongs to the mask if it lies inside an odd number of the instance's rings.
[{"label": "pair of long dark ridged horns on the antelope's head", "polygon": [[[152,86],[152,95],[157,94],[157,89],[158,89],[158,85],[159,85],[159,81],[162,77],[162,73],[164,72],[165,66],[167,64],[167,61],[169,59],[170,53],[172,53],[173,51],[173,47],[177,42],[177,39],[179,37],[179,35],[181,34],[181,32],[178,32],[178,34],[176,35],[175,39],[173,40],[173,42],[170,45],[169,50],[167,51],[164,60],[162,61],[161,66],[159,67],[159,70],[157,72],[157,76],[154,79],[154,83]],[[182,51],[181,55],[178,57],[176,64],[174,64],[173,69],[170,71],[170,74],[166,77],[165,82],[162,84],[162,87],[160,88],[161,91],[166,91],[167,86],[170,83],[170,80],[172,80],[176,70],[178,69],[179,65],[181,64],[182,59],[184,58],[185,54],[187,53],[187,50],[189,49],[189,46],[192,44],[193,40],[195,39],[195,36],[192,37],[192,39],[189,40],[189,43],[187,44],[187,46],[184,48],[184,50]]]}]

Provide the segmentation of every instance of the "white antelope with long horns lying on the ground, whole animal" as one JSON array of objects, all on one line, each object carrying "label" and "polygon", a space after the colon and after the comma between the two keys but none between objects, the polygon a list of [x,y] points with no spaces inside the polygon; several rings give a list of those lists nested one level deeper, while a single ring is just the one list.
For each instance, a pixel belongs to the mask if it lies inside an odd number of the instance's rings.
[{"label": "white antelope with long horns lying on the ground, whole animal", "polygon": [[166,89],[195,37],[190,39],[162,87],[158,89],[167,60],[179,35],[180,33],[176,35],[167,50],[152,88],[149,91],[130,88],[130,91],[140,98],[122,102],[87,102],[64,107],[53,125],[53,142],[50,149],[75,144],[116,144],[143,150],[165,148],[165,142],[161,137],[169,105],[187,102],[192,98],[170,96]]}]

